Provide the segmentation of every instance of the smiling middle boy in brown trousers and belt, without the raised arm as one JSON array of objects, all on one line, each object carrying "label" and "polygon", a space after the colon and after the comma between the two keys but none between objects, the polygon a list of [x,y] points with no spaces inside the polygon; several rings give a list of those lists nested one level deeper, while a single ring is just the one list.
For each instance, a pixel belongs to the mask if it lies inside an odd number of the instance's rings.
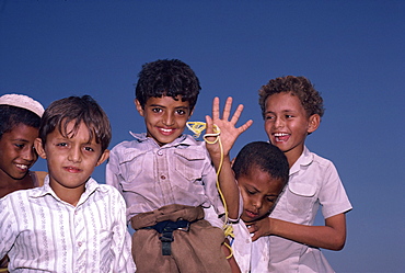
[{"label": "smiling middle boy in brown trousers and belt, without the raised arm", "polygon": [[[147,133],[115,146],[106,167],[106,183],[123,193],[136,230],[137,270],[230,272],[221,251],[223,231],[204,220],[211,207],[224,213],[215,169],[205,143],[183,134],[199,80],[177,59],[146,64],[138,76],[135,104]],[[239,204],[238,196],[234,201]],[[238,218],[234,207],[230,217]],[[218,220],[217,214],[210,218]]]}]

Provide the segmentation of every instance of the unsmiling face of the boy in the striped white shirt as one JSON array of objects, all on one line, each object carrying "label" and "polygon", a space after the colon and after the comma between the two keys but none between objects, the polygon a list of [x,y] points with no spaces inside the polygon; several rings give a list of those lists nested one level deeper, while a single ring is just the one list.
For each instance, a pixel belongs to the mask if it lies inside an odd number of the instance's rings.
[{"label": "unsmiling face of the boy in the striped white shirt", "polygon": [[[73,126],[74,121],[68,124],[67,132],[71,132]],[[108,158],[108,151],[102,151],[101,144],[95,143],[94,137],[92,141],[89,139],[84,123],[80,124],[71,138],[63,137],[59,129],[55,129],[47,135],[45,147],[39,138],[36,139],[35,147],[39,156],[47,160],[49,184],[59,197],[73,192],[83,193],[94,168]]]}]

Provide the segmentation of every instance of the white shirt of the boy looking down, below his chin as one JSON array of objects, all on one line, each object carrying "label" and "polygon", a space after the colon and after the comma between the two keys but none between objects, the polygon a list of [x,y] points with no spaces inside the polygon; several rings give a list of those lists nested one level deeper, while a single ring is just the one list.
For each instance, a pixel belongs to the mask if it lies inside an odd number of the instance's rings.
[{"label": "white shirt of the boy looking down, below his chin", "polygon": [[243,220],[232,224],[235,236],[232,242],[233,255],[242,273],[268,272],[268,236],[252,241],[251,234]]}]

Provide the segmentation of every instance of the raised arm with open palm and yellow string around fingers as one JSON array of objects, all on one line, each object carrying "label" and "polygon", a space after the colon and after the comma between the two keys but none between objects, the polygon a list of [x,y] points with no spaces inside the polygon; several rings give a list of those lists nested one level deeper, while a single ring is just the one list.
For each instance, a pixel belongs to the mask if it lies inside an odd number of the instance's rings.
[{"label": "raised arm with open palm and yellow string around fingers", "polygon": [[247,121],[240,127],[235,127],[239,117],[243,111],[243,105],[240,104],[233,114],[231,121],[229,121],[230,112],[232,106],[232,98],[228,98],[225,106],[223,109],[222,118],[219,116],[219,99],[215,98],[212,102],[212,117],[206,116],[207,122],[207,134],[213,133],[213,124],[220,128],[219,141],[210,144],[216,140],[216,137],[207,137],[207,149],[210,153],[212,163],[218,172],[221,161],[221,146],[222,146],[222,167],[219,172],[219,184],[223,197],[227,202],[229,217],[233,219],[239,218],[239,187],[235,182],[235,178],[231,168],[231,160],[229,152],[235,143],[236,138],[245,132],[253,123]]}]

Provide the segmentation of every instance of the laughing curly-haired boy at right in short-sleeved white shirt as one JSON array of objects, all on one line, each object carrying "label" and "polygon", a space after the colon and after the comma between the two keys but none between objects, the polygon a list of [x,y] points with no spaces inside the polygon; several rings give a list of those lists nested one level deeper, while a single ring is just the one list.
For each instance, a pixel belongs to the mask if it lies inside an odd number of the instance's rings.
[{"label": "laughing curly-haired boy at right in short-sleeved white shirt", "polygon": [[[262,87],[259,105],[270,143],[287,156],[290,179],[270,217],[252,225],[253,240],[273,235],[271,271],[333,272],[320,248],[343,249],[351,204],[334,164],[304,144],[320,125],[323,100],[306,78],[287,76]],[[320,205],[325,225],[312,226]]]}]

